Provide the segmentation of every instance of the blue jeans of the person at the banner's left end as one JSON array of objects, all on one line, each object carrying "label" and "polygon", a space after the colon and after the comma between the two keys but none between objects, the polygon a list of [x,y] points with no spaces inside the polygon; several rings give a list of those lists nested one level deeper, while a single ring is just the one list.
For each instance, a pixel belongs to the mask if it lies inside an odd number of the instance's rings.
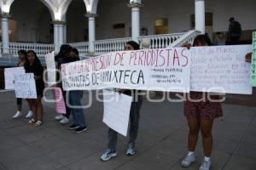
[{"label": "blue jeans of the person at the banner's left end", "polygon": [[82,109],[81,99],[83,98],[83,91],[73,90],[69,92],[69,104],[71,105],[71,114],[73,122],[79,127],[85,127],[84,112]]}]

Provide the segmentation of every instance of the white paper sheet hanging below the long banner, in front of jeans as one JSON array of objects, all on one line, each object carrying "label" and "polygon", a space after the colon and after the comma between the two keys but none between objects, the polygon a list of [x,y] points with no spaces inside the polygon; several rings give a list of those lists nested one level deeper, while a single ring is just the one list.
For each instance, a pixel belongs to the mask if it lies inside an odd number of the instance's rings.
[{"label": "white paper sheet hanging below the long banner, in front of jeans", "polygon": [[103,90],[103,122],[117,133],[127,136],[132,97],[109,90]]}]

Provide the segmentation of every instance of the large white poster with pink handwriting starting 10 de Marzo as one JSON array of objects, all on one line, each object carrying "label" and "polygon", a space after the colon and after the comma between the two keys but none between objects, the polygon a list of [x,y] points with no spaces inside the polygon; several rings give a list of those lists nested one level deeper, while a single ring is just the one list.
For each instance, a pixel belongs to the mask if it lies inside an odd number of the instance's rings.
[{"label": "large white poster with pink handwriting starting 10 de Marzo", "polygon": [[191,91],[252,94],[245,61],[251,51],[252,45],[191,48]]}]

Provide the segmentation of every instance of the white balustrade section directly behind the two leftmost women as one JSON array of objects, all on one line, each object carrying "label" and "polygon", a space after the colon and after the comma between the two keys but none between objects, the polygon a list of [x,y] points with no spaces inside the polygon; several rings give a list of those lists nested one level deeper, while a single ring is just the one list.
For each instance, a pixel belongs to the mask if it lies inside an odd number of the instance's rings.
[{"label": "white balustrade section directly behind the two leftmost women", "polygon": [[34,50],[38,56],[44,56],[55,49],[54,44],[44,44],[44,43],[23,43],[23,42],[10,42],[9,43],[9,54],[12,56],[18,56],[18,51],[20,49],[24,50]]}]

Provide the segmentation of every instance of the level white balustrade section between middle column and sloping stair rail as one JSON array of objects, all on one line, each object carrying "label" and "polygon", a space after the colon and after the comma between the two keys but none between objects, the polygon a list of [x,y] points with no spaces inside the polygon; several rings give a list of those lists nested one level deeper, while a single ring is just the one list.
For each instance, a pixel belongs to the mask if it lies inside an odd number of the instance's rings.
[{"label": "level white balustrade section between middle column and sloping stair rail", "polygon": [[185,34],[183,33],[172,33],[172,34],[162,34],[162,35],[154,35],[154,36],[143,36],[139,37],[139,41],[142,42],[143,39],[150,40],[149,48],[166,48],[175,42],[177,39],[182,37]]}]

